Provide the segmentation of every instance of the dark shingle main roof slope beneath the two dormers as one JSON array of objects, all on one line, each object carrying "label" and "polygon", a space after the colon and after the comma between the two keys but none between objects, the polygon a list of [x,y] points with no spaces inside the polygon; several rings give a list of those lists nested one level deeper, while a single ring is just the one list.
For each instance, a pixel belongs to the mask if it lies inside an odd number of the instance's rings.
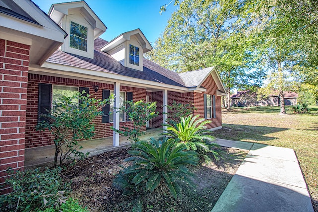
[{"label": "dark shingle main roof slope beneath the two dormers", "polygon": [[95,40],[93,59],[57,50],[52,54],[47,62],[185,87],[183,81],[177,73],[167,70],[147,59],[143,60],[143,71],[123,66],[109,54],[100,51],[100,48],[107,43],[107,41],[101,38],[97,38]]}]

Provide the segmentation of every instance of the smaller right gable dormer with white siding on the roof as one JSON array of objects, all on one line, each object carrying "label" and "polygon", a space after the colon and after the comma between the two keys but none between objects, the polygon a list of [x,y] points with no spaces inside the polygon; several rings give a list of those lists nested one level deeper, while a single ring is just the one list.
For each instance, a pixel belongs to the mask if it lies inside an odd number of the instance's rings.
[{"label": "smaller right gable dormer with white siding on the roof", "polygon": [[140,29],[125,32],[109,43],[101,51],[110,54],[123,66],[143,71],[143,54],[152,49]]}]

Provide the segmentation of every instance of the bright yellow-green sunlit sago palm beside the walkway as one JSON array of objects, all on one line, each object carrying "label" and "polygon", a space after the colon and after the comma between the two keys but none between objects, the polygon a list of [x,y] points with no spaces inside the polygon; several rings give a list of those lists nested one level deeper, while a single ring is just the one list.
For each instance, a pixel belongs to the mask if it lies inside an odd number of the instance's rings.
[{"label": "bright yellow-green sunlit sago palm beside the walkway", "polygon": [[[207,159],[204,153],[212,154],[214,158],[218,158],[219,153],[212,150],[212,147],[217,147],[217,144],[210,144],[210,141],[215,141],[215,138],[207,133],[206,124],[211,123],[210,120],[204,118],[198,119],[199,115],[181,117],[180,122],[171,121],[167,126],[167,132],[162,133],[179,142],[178,145],[185,145],[188,150],[197,151],[203,159]],[[209,160],[207,159],[206,162]]]}]

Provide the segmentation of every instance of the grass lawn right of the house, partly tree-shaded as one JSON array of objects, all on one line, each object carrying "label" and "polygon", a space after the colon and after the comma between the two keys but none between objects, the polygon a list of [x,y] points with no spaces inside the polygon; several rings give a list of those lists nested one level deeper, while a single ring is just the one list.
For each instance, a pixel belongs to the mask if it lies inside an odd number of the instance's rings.
[{"label": "grass lawn right of the house, partly tree-shaded", "polygon": [[292,114],[289,107],[287,115],[279,115],[279,107],[222,111],[223,129],[214,136],[294,149],[318,211],[318,106],[309,109],[311,114],[304,115]]}]

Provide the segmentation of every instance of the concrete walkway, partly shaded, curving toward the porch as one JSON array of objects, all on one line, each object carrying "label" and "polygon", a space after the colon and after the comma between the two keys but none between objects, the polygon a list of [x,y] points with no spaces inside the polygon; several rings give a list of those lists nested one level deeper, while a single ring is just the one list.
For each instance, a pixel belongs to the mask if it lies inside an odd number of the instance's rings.
[{"label": "concrete walkway, partly shaded, curving toward the porch", "polygon": [[217,142],[250,151],[211,212],[314,212],[293,149]]}]

